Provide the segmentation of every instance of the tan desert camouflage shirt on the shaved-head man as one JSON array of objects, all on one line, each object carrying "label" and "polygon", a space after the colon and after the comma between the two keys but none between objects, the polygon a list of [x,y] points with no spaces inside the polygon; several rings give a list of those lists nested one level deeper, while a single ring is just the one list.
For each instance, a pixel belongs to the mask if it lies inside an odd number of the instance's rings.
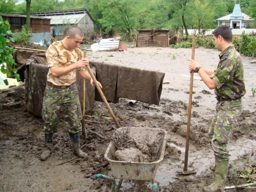
[{"label": "tan desert camouflage shirt on the shaved-head man", "polygon": [[[46,52],[48,67],[67,67],[82,58],[82,52],[79,48],[72,50],[66,49],[61,41],[55,41]],[[69,86],[76,81],[76,70],[67,75],[54,77],[49,70],[47,80],[57,86]]]}]

